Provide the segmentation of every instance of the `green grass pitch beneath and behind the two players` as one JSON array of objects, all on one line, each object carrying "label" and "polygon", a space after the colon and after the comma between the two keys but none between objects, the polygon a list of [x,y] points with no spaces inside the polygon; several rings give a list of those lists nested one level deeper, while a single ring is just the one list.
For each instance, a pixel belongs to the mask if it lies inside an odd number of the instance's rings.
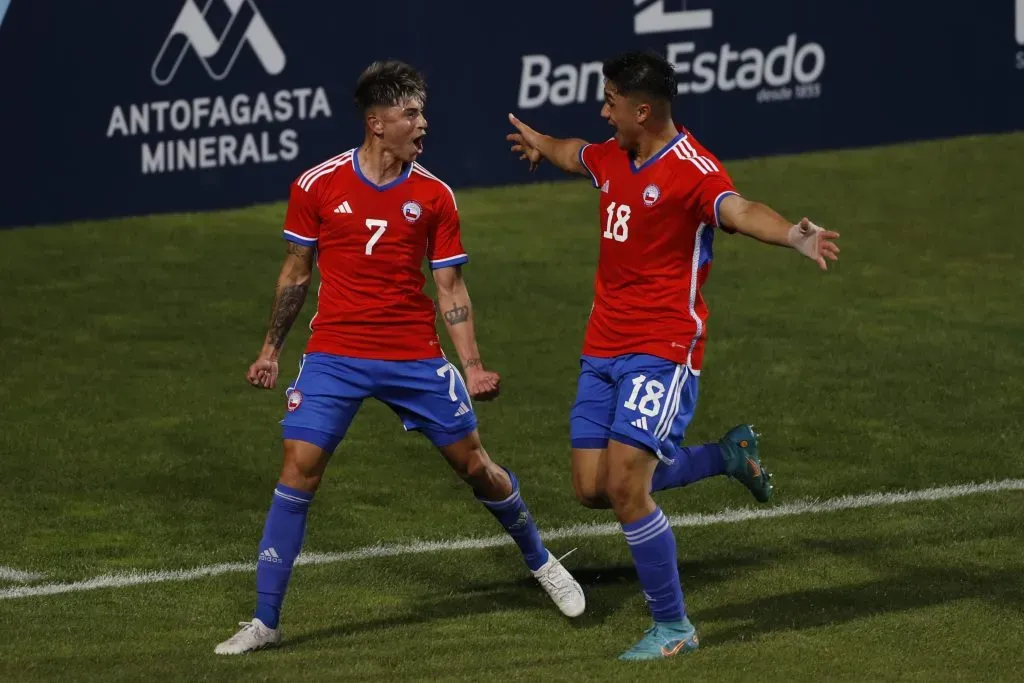
[{"label": "green grass pitch beneath and behind the two players", "polygon": [[[435,153],[439,154],[439,153]],[[429,158],[425,160],[429,167]],[[1024,134],[754,160],[740,189],[842,232],[828,273],[719,236],[687,441],[763,433],[772,506],[1024,477]],[[590,309],[586,182],[461,191],[466,276],[502,397],[493,457],[542,525],[610,522],[569,481]],[[283,205],[0,231],[0,567],[39,584],[255,564],[280,464],[262,341]],[[307,302],[283,356],[294,376]],[[451,350],[451,346],[446,345]],[[670,514],[746,508],[725,479]],[[284,646],[222,658],[253,573],[0,599],[4,680],[1020,680],[1024,493],[676,530],[702,648],[614,657],[648,624],[621,537],[563,538],[588,612],[563,618],[514,548],[301,566]],[[365,404],[307,552],[501,531],[422,437]],[[0,573],[0,577],[3,574]],[[3,591],[19,586],[0,579]]]}]

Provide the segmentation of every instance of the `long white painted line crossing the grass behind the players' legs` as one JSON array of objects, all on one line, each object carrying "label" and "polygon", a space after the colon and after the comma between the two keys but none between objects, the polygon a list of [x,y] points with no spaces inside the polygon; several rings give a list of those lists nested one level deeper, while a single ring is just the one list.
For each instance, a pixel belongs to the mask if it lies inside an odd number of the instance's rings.
[{"label": "long white painted line crossing the grass behind the players' legs", "polygon": [[[903,493],[877,493],[858,496],[843,496],[824,501],[807,500],[784,503],[769,508],[746,508],[725,510],[713,514],[691,514],[670,517],[675,527],[710,526],[711,524],[734,524],[736,522],[774,519],[776,517],[794,517],[799,515],[836,512],[839,510],[854,510],[858,508],[878,508],[901,503],[918,503],[924,501],[944,501],[976,494],[989,494],[1007,490],[1024,490],[1024,479],[1004,479],[1001,481],[986,481],[984,483],[968,483],[954,486],[939,486],[922,490]],[[558,539],[585,539],[621,533],[618,524],[577,524],[542,532],[546,541]],[[335,564],[338,562],[354,562],[378,557],[398,557],[401,555],[417,555],[420,553],[452,552],[458,550],[480,550],[510,545],[508,536],[493,536],[483,539],[456,539],[452,541],[417,541],[408,544],[377,545],[349,550],[341,553],[303,553],[295,561],[296,564]],[[256,563],[228,562],[211,564],[193,569],[170,569],[163,571],[127,571],[104,574],[69,584],[45,584],[42,586],[18,586],[0,589],[0,600],[29,598],[41,595],[58,595],[61,593],[77,593],[92,591],[99,588],[124,588],[142,584],[159,584],[168,581],[193,581],[204,577],[218,577],[224,573],[254,571]]]}]

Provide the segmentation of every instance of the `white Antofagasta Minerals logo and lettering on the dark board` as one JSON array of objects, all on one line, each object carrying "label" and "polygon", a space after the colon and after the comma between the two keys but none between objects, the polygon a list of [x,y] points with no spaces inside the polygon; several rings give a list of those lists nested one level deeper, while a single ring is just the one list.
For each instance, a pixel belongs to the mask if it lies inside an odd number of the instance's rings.
[{"label": "white Antofagasta Minerals logo and lettering on the dark board", "polygon": [[[185,0],[153,62],[155,84],[171,83],[185,59],[198,59],[213,81],[223,81],[247,48],[268,76],[285,70],[285,52],[254,0],[220,0],[229,18],[219,36],[207,22],[214,1],[206,0],[200,9],[195,0]],[[143,174],[272,164],[298,157],[296,127],[321,117],[331,117],[323,87],[160,99],[116,104],[106,137],[144,137],[139,144]]]}]

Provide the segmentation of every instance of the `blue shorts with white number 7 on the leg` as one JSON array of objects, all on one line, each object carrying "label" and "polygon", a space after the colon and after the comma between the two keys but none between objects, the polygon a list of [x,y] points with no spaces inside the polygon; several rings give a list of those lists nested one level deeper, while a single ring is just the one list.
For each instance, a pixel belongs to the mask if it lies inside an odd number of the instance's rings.
[{"label": "blue shorts with white number 7 on the leg", "polygon": [[476,429],[462,375],[445,358],[370,360],[307,353],[288,390],[281,421],[286,439],[334,452],[366,398],[388,405],[408,431],[421,431],[437,447]]}]

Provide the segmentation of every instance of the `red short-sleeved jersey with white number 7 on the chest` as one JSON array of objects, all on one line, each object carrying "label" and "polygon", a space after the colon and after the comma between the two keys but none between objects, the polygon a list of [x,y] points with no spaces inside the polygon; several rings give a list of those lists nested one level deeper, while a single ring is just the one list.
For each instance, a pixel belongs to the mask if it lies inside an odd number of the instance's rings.
[{"label": "red short-sleeved jersey with white number 7 on the chest", "polygon": [[452,188],[417,163],[384,185],[359,170],[350,150],[292,183],[285,239],[316,249],[316,314],[306,352],[418,360],[442,355],[432,269],[469,260]]}]

